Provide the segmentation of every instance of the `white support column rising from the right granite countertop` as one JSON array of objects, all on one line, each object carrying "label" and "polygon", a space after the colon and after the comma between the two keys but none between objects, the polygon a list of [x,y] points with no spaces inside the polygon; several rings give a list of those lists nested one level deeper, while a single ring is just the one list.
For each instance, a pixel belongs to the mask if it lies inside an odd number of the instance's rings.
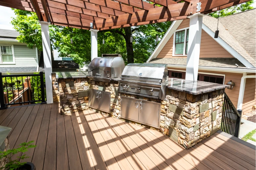
[{"label": "white support column rising from the right granite countertop", "polygon": [[203,15],[196,13],[189,18],[186,80],[196,81],[198,75]]}]

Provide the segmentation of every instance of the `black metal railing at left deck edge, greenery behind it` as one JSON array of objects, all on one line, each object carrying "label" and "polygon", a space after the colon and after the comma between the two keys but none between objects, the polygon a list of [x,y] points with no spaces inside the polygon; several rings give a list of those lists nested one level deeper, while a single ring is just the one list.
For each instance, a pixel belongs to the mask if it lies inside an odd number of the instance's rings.
[{"label": "black metal railing at left deck edge, greenery behind it", "polygon": [[45,103],[44,73],[2,75],[0,73],[0,108]]}]

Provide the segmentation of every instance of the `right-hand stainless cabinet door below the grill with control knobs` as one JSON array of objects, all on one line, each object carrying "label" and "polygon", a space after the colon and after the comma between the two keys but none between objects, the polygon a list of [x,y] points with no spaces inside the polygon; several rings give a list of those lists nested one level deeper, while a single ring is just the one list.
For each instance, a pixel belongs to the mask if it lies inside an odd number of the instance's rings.
[{"label": "right-hand stainless cabinet door below the grill with control knobs", "polygon": [[159,126],[160,104],[139,101],[139,122],[149,125]]}]

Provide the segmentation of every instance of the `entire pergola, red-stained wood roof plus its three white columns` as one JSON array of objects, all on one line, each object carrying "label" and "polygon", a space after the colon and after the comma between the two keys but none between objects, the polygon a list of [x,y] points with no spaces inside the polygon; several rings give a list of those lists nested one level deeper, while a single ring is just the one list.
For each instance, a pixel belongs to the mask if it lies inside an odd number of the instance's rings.
[{"label": "entire pergola, red-stained wood roof plus its three white columns", "polygon": [[[97,32],[190,18],[186,80],[196,81],[202,14],[249,0],[0,0],[0,5],[35,12],[41,24],[47,103],[53,103],[49,24],[91,31],[91,58],[98,55]],[[158,5],[157,5],[158,4]],[[160,6],[161,7],[160,7]],[[180,21],[178,21],[180,20]]]}]

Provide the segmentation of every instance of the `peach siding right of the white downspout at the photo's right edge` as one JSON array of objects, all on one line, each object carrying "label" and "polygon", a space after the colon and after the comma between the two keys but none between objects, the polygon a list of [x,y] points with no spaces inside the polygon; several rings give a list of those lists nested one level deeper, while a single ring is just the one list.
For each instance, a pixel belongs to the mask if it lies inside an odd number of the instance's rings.
[{"label": "peach siding right of the white downspout at the photo's right edge", "polygon": [[[256,75],[256,74],[247,74],[247,75]],[[243,114],[249,113],[252,111],[252,105],[256,104],[256,79],[247,78],[244,89],[243,96]]]}]

